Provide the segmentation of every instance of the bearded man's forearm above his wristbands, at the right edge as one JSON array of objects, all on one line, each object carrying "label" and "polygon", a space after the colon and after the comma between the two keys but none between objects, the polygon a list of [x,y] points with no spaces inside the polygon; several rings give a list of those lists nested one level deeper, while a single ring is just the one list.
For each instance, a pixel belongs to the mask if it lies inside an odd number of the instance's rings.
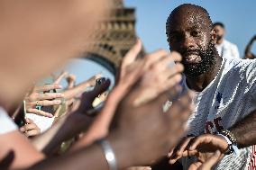
[{"label": "bearded man's forearm above his wristbands, at the right edge", "polygon": [[251,112],[231,129],[239,148],[256,145],[256,111]]}]

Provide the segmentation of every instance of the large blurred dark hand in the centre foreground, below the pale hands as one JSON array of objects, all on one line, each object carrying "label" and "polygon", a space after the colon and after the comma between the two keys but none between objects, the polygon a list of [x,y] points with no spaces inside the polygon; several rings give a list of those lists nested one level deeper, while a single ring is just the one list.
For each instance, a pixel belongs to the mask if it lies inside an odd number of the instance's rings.
[{"label": "large blurred dark hand in the centre foreground, below the pale hands", "polygon": [[[190,94],[184,94],[172,104],[168,112],[161,112],[162,103],[169,98],[166,91],[148,103],[135,106],[134,100],[140,96],[143,88],[134,87],[125,95],[118,105],[114,115],[115,126],[110,132],[110,139],[112,134],[117,139],[120,137],[120,148],[122,142],[125,143],[127,150],[123,146],[122,153],[130,154],[129,160],[126,161],[133,162],[133,166],[149,165],[151,161],[166,155],[169,148],[173,148],[184,135],[187,119],[193,109]],[[136,149],[131,152],[131,148]],[[121,162],[122,153],[116,154],[116,157],[121,157]]]}]

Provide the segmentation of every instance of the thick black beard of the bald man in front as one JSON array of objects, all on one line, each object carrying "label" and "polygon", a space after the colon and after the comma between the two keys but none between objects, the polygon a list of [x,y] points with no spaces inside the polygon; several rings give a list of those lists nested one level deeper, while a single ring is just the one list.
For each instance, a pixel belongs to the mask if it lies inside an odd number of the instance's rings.
[{"label": "thick black beard of the bald man in front", "polygon": [[215,43],[210,40],[206,49],[187,49],[187,51],[181,53],[183,56],[189,52],[197,52],[197,55],[201,58],[199,63],[187,63],[186,58],[183,57],[181,63],[184,65],[184,74],[190,77],[197,77],[206,72],[211,71],[216,64],[215,57]]}]

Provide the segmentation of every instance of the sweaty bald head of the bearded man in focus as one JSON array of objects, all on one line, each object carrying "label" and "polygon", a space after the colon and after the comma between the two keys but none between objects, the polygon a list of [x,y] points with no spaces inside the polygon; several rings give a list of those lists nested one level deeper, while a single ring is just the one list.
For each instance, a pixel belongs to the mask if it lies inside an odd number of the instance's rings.
[{"label": "sweaty bald head of the bearded man in focus", "polygon": [[195,4],[175,8],[166,23],[169,49],[182,55],[185,75],[197,77],[215,67],[215,31],[206,9]]}]

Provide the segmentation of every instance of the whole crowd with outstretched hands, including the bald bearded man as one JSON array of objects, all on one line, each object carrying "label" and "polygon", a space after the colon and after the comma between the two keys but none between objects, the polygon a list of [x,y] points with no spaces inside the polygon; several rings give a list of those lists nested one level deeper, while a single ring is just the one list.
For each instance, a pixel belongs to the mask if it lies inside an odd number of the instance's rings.
[{"label": "whole crowd with outstretched hands, including the bald bearded man", "polygon": [[0,2],[0,169],[146,170],[168,157],[168,169],[255,170],[256,37],[240,58],[201,6],[169,13],[170,51],[137,58],[136,40],[115,82],[53,74],[87,51],[111,4]]}]

